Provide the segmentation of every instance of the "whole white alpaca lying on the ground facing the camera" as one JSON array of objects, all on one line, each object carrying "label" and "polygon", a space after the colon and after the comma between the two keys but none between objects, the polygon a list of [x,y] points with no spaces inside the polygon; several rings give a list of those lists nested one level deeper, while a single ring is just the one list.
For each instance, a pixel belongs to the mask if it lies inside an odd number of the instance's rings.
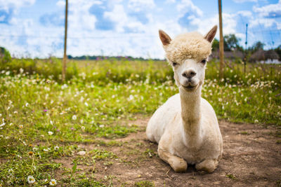
[{"label": "whole white alpaca lying on the ground facing the camera", "polygon": [[159,30],[179,94],[170,97],[155,111],[146,134],[150,141],[159,144],[159,157],[175,172],[184,172],[188,164],[195,164],[198,170],[213,172],[223,152],[216,113],[201,97],[216,29],[213,27],[205,36],[198,32],[181,34],[174,40]]}]

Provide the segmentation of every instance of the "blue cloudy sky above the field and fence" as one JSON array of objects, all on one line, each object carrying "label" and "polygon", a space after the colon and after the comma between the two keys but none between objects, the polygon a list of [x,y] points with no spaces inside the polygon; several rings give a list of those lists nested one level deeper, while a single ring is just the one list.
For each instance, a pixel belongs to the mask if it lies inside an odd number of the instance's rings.
[{"label": "blue cloudy sky above the field and fence", "polygon": [[[17,57],[63,56],[65,0],[0,0],[0,46]],[[67,55],[164,58],[158,29],[172,38],[218,24],[217,0],[69,0]],[[244,46],[281,45],[281,0],[223,0],[223,34]],[[218,34],[216,35],[218,39]]]}]

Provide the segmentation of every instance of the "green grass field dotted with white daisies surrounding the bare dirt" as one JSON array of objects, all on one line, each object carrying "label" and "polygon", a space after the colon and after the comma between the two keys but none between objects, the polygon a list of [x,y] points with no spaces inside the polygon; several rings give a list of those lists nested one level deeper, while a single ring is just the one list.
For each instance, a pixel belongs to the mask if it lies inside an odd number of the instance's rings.
[{"label": "green grass field dotted with white daisies surrounding the bare dirt", "polygon": [[[111,165],[117,156],[108,147],[118,144],[115,139],[144,130],[126,122],[151,116],[178,92],[163,61],[70,61],[65,83],[58,59],[12,60],[0,68],[2,186],[28,185],[28,176],[37,186],[109,186],[110,176],[96,179],[77,165]],[[244,74],[242,64],[228,62],[220,80],[212,61],[206,74],[202,97],[219,119],[281,125],[280,65],[249,64]],[[90,160],[74,158],[71,169],[53,161],[82,154],[78,144],[102,146],[89,153]]]}]

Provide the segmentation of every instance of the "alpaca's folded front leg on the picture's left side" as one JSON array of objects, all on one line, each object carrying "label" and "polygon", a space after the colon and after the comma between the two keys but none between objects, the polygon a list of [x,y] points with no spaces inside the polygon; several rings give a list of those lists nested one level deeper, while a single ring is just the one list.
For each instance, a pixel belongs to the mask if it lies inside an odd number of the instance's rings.
[{"label": "alpaca's folded front leg on the picture's left side", "polygon": [[169,163],[175,172],[185,172],[186,169],[188,169],[188,163],[185,162],[183,158],[172,155],[171,153],[162,150],[162,148],[158,148],[158,155],[162,160]]}]

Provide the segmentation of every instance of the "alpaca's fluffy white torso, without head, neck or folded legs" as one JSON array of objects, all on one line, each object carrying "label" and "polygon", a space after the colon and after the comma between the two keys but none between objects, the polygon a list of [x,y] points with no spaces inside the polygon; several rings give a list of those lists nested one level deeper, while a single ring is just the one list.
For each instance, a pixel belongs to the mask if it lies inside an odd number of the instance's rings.
[{"label": "alpaca's fluffy white torso, without head, neck or folded legs", "polygon": [[216,114],[209,102],[203,98],[201,111],[200,137],[184,133],[180,94],[170,97],[150,118],[146,130],[148,139],[189,164],[197,164],[207,159],[218,160],[221,158],[223,144]]}]

